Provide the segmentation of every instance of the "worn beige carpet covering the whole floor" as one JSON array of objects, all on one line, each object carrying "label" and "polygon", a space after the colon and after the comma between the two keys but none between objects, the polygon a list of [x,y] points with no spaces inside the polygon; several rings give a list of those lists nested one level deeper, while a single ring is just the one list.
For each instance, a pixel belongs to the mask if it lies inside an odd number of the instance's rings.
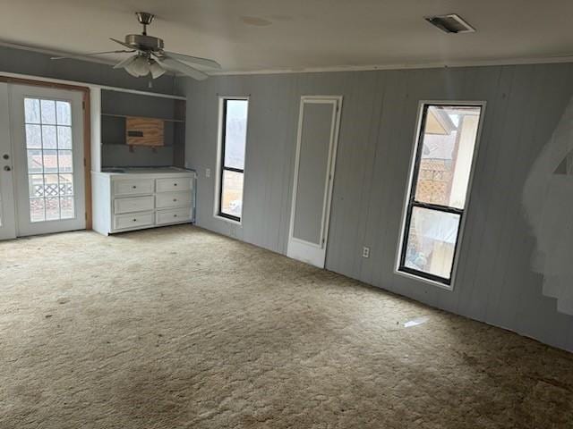
[{"label": "worn beige carpet covering the whole floor", "polygon": [[192,226],[0,268],[2,429],[573,427],[573,355]]}]

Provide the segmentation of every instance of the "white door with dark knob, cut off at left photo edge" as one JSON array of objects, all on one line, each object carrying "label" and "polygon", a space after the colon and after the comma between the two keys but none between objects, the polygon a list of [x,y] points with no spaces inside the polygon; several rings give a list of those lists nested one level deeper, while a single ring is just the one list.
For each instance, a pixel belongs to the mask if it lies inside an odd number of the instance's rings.
[{"label": "white door with dark knob, cut off at left photo edge", "polygon": [[8,84],[0,82],[0,240],[16,238]]}]

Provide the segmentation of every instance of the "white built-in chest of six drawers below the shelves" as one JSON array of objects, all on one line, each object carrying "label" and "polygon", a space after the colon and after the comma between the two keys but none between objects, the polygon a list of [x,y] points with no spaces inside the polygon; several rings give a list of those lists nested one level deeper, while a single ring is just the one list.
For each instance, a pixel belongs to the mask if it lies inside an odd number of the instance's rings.
[{"label": "white built-in chest of six drawers below the shelves", "polygon": [[93,229],[107,235],[194,222],[195,179],[175,167],[92,172]]}]

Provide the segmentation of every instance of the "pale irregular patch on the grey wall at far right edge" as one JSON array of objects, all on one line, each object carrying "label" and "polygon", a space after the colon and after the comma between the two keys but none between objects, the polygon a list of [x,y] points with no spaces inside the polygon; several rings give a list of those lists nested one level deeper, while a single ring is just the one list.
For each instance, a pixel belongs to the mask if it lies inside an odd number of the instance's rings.
[{"label": "pale irregular patch on the grey wall at far right edge", "polygon": [[573,98],[529,172],[523,192],[536,239],[532,267],[543,274],[543,294],[573,315]]}]

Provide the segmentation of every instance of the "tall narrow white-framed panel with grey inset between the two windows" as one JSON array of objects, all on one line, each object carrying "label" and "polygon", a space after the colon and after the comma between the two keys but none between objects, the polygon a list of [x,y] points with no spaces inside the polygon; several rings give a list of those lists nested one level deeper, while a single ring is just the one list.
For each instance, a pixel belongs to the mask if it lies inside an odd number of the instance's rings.
[{"label": "tall narrow white-framed panel with grey inset between the two windows", "polygon": [[324,267],[342,97],[301,97],[286,255]]}]

